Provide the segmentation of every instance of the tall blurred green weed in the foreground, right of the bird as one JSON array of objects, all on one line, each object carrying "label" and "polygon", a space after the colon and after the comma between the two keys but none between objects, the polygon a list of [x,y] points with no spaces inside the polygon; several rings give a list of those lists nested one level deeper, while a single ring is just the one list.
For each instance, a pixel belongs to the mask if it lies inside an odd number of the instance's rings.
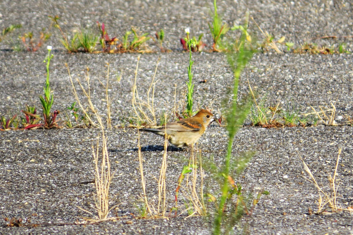
[{"label": "tall blurred green weed in the foreground, right of the bird", "polygon": [[[223,163],[223,167],[217,175],[221,175],[220,179],[220,188],[221,195],[215,197],[211,194],[211,200],[214,201],[216,206],[216,213],[213,223],[213,234],[218,235],[221,234],[222,227],[225,233],[229,233],[229,231],[233,228],[235,223],[238,221],[239,216],[242,213],[238,213],[238,211],[242,211],[244,209],[244,204],[239,203],[243,199],[240,197],[241,186],[235,186],[234,181],[232,180],[231,173],[234,169],[237,169],[237,173],[239,174],[246,166],[246,163],[250,160],[252,153],[247,154],[243,159],[238,161],[231,161],[232,158],[232,149],[233,149],[233,141],[235,133],[238,131],[239,127],[243,124],[246,119],[247,114],[252,106],[252,102],[250,97],[248,96],[242,102],[243,105],[238,103],[238,85],[240,74],[244,70],[246,64],[252,58],[253,51],[246,47],[246,35],[243,33],[241,36],[240,47],[238,53],[228,53],[227,59],[228,63],[231,65],[231,68],[234,72],[234,83],[233,83],[233,92],[232,92],[232,101],[230,105],[226,108],[226,121],[227,121],[227,131],[228,131],[228,146],[227,146],[227,155],[225,156],[225,160]],[[237,168],[235,168],[235,165]],[[211,163],[212,165],[212,163]],[[213,164],[214,165],[214,164]],[[216,167],[211,167],[213,169],[217,169]],[[263,194],[263,193],[262,193]],[[228,206],[233,204],[233,196],[237,195],[237,200],[235,205],[231,208],[234,208],[232,211],[226,210]],[[261,194],[260,194],[261,196]],[[223,226],[222,226],[223,225]]]}]

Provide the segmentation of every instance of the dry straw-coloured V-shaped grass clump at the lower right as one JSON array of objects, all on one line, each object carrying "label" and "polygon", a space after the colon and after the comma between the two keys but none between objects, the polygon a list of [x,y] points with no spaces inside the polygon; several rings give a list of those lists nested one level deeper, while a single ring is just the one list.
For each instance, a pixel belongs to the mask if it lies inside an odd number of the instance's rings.
[{"label": "dry straw-coloured V-shaped grass clump at the lower right", "polygon": [[341,151],[342,151],[342,148],[340,147],[338,149],[338,155],[337,155],[337,159],[336,159],[336,165],[335,165],[335,170],[334,170],[333,176],[331,174],[328,175],[328,181],[329,181],[329,186],[330,186],[329,193],[325,192],[324,189],[318,185],[310,168],[304,162],[303,158],[301,156],[299,156],[301,161],[303,162],[304,169],[305,169],[306,173],[309,174],[309,176],[311,178],[311,180],[310,179],[307,179],[307,180],[309,180],[310,182],[312,182],[315,185],[315,187],[317,188],[318,194],[319,194],[318,210],[316,213],[323,213],[325,211],[326,205],[328,205],[331,208],[332,212],[338,212],[340,210],[345,210],[345,209],[339,207],[338,203],[337,203],[337,190],[339,187],[339,183],[336,185],[336,175],[338,175],[337,169],[338,169],[338,163],[340,161]]}]

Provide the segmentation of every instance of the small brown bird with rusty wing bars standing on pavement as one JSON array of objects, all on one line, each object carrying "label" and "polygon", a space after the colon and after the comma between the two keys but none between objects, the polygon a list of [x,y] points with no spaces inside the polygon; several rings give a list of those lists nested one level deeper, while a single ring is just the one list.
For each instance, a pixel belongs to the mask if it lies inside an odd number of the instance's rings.
[{"label": "small brown bird with rusty wing bars standing on pavement", "polygon": [[205,132],[206,127],[217,121],[216,116],[207,109],[200,109],[197,114],[190,118],[184,118],[176,122],[168,123],[165,126],[156,128],[142,128],[141,131],[152,132],[165,136],[170,143],[181,148],[195,144],[201,135]]}]

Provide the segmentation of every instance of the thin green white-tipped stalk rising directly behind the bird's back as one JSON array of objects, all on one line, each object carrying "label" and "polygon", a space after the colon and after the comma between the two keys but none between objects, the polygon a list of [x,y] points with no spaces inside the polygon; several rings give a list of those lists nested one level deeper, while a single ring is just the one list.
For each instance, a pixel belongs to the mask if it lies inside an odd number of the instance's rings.
[{"label": "thin green white-tipped stalk rising directly behind the bird's back", "polygon": [[186,38],[185,41],[187,43],[187,46],[189,47],[189,66],[187,67],[187,76],[189,77],[189,81],[186,82],[187,85],[187,94],[186,94],[186,100],[187,100],[187,105],[186,105],[186,113],[189,117],[192,116],[192,94],[194,92],[194,85],[192,84],[192,72],[191,72],[191,67],[194,61],[191,59],[191,45],[194,47],[196,46],[195,40],[190,39],[189,34],[190,34],[190,29],[187,28],[185,29],[186,32]]}]

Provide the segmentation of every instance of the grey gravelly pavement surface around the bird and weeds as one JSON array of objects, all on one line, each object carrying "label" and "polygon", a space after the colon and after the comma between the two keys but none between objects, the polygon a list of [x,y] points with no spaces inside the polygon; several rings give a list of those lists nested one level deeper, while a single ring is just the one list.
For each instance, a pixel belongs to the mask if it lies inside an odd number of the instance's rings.
[{"label": "grey gravelly pavement surface around the bird and weeds", "polygon": [[[12,34],[48,27],[47,15],[59,15],[62,27],[70,34],[80,26],[104,22],[109,36],[119,37],[131,25],[142,32],[164,29],[164,46],[171,53],[155,53],[140,57],[137,88],[142,99],[158,64],[155,80],[154,103],[157,123],[163,112],[173,119],[174,92],[177,110],[185,105],[186,67],[189,54],[181,51],[180,37],[184,28],[190,27],[192,35],[204,33],[210,48],[212,38],[207,23],[212,2],[205,1],[7,1],[0,2],[0,28],[22,24],[23,28]],[[333,46],[346,43],[352,51],[353,6],[349,1],[217,1],[219,12],[229,24],[240,23],[245,11],[250,12],[259,26],[278,40],[296,46],[304,42]],[[259,41],[263,36],[255,24],[250,29]],[[105,113],[104,84],[107,62],[110,64],[109,96],[112,99],[113,125],[126,125],[134,116],[131,107],[131,80],[134,79],[136,53],[124,54],[68,54],[57,35],[46,45],[53,46],[54,58],[50,64],[50,83],[54,94],[53,107],[61,111],[66,120],[66,107],[75,101],[65,63],[73,79],[85,82],[89,67],[92,100],[100,113]],[[115,35],[116,34],[116,35]],[[230,32],[234,34],[234,32]],[[322,39],[323,36],[337,38]],[[46,71],[43,59],[45,46],[38,52],[13,52],[8,40],[0,43],[0,114],[22,116],[25,104],[40,107],[39,95],[43,93]],[[229,100],[233,74],[221,53],[194,53],[195,80],[194,104],[209,107],[221,114],[224,100]],[[121,75],[118,82],[117,76]],[[198,81],[207,79],[206,83]],[[248,91],[247,79],[259,97],[267,96],[268,105],[280,103],[300,113],[311,112],[310,105],[325,106],[336,101],[336,121],[343,123],[353,117],[353,65],[351,54],[309,55],[273,51],[257,53],[242,74],[239,96]],[[77,85],[77,83],[75,82]],[[84,100],[84,95],[79,91]],[[248,124],[249,119],[246,120]],[[127,126],[127,125],[126,125]],[[138,169],[137,131],[134,128],[107,130],[109,157],[115,172],[110,187],[113,203],[120,204],[114,212],[123,218],[98,225],[70,225],[89,214],[77,206],[94,211],[94,185],[82,183],[94,177],[92,144],[100,130],[95,128],[37,129],[0,132],[0,216],[30,219],[37,227],[7,227],[0,222],[0,234],[211,234],[210,218],[186,215],[169,219],[135,219],[136,204],[142,193]],[[152,133],[141,134],[142,154],[145,160],[147,194],[156,200],[154,177],[158,176],[163,155],[163,138]],[[328,174],[332,174],[342,147],[337,177],[340,180],[338,202],[344,208],[353,206],[353,129],[352,126],[309,126],[284,128],[259,128],[244,126],[235,136],[234,157],[248,150],[256,151],[245,171],[236,179],[247,193],[267,190],[251,216],[244,216],[235,233],[247,228],[248,234],[353,234],[352,213],[339,212],[310,215],[309,208],[317,208],[317,189],[307,181],[303,157],[319,185],[328,189]],[[200,138],[198,147],[204,158],[213,158],[217,166],[223,163],[227,149],[227,132],[216,123],[211,124]],[[178,177],[189,158],[187,150],[168,149],[167,200],[173,205]],[[210,174],[205,175],[208,187],[217,191]],[[186,219],[185,219],[186,218]],[[132,220],[132,224],[126,221]],[[59,223],[66,225],[59,226]]]}]

